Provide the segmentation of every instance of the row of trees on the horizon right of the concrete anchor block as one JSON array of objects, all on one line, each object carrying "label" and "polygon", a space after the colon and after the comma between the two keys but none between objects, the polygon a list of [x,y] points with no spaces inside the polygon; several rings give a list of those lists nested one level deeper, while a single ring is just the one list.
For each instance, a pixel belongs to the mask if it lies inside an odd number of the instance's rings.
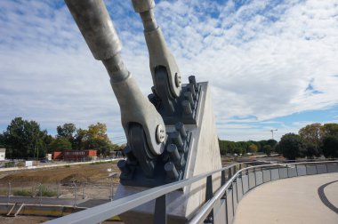
[{"label": "row of trees on the horizon right of the concrete anchor block", "polygon": [[338,157],[338,124],[309,124],[300,129],[298,134],[286,133],[276,140],[230,141],[219,140],[221,155],[263,152],[268,156],[272,151],[282,154],[287,159],[298,157],[326,158]]}]

